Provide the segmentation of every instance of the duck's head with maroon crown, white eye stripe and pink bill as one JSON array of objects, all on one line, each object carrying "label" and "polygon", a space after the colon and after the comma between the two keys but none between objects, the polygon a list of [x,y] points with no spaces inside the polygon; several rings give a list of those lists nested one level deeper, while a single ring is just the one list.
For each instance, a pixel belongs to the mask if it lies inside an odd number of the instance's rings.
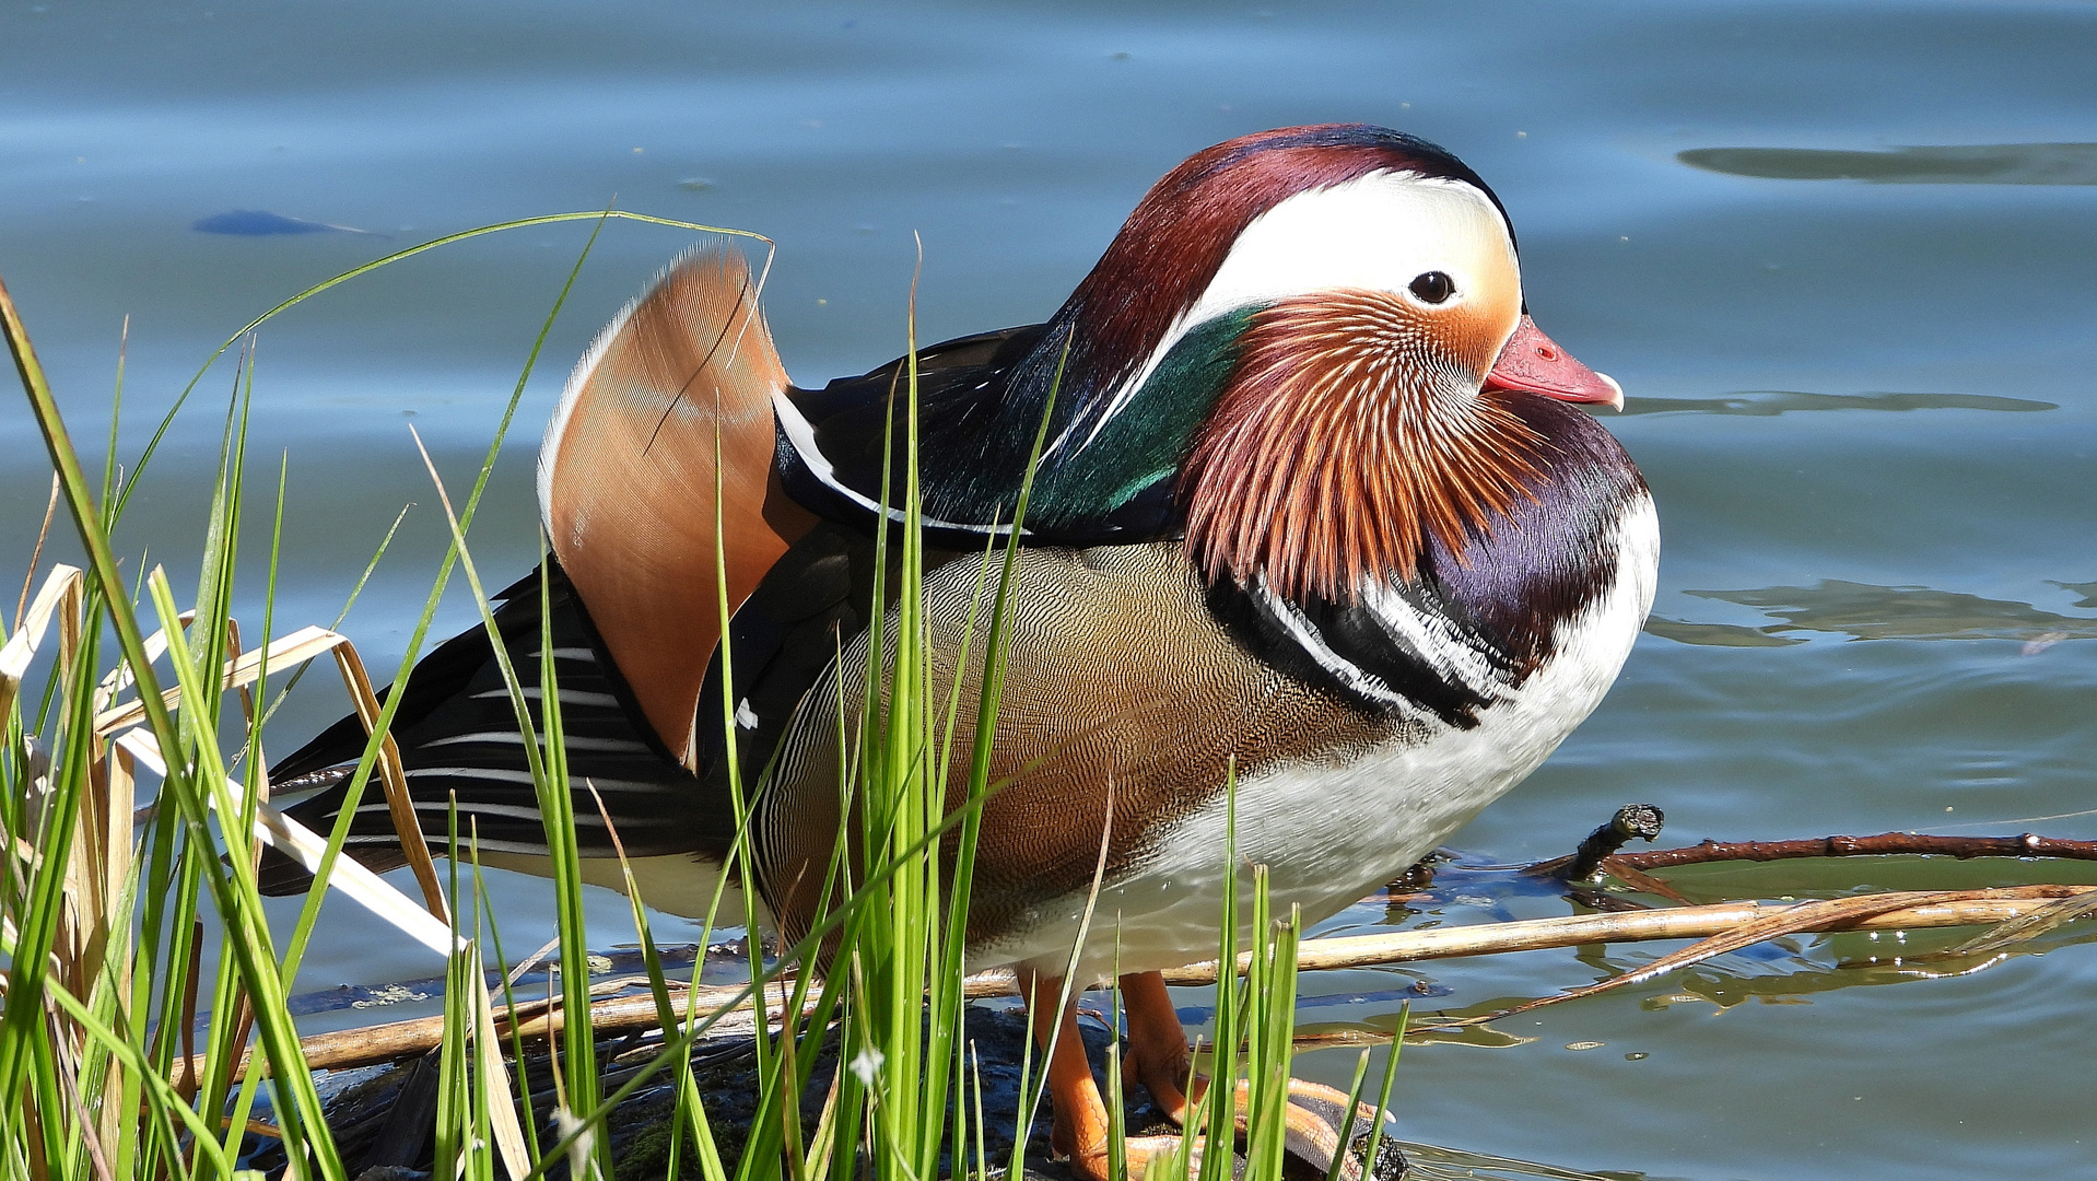
[{"label": "duck's head with maroon crown, white eye stripe and pink bill", "polygon": [[1527,317],[1485,180],[1365,124],[1189,157],[1057,321],[1080,384],[1055,459],[1124,434],[1124,415],[1172,430],[1160,417],[1199,405],[1189,543],[1210,577],[1288,596],[1353,598],[1409,579],[1428,537],[1462,552],[1489,533],[1535,476],[1518,399],[1623,399]]}]

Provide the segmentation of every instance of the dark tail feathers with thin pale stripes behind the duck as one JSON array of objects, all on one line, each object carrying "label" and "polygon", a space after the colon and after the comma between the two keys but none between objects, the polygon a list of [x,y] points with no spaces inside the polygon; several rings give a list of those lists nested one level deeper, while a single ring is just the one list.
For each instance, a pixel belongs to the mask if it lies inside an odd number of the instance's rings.
[{"label": "dark tail feathers with thin pale stripes behind the duck", "polygon": [[[495,610],[510,665],[524,688],[533,730],[543,728],[541,577],[547,583],[547,634],[581,854],[610,858],[614,852],[612,833],[598,810],[602,797],[631,858],[690,854],[719,860],[734,839],[728,793],[688,772],[656,743],[619,669],[606,659],[589,615],[552,562],[503,589],[497,596],[503,602]],[[390,692],[388,688],[380,696]],[[484,627],[440,644],[415,665],[392,734],[407,768],[415,818],[432,852],[445,854],[451,810],[457,808],[461,843],[478,839],[484,860],[547,854],[524,753],[526,738],[518,730],[516,707]],[[317,789],[285,812],[327,835],[342,814],[363,749],[365,728],[350,715],[271,768],[271,782],[279,791]],[[359,797],[344,852],[373,871],[405,862],[377,774]],[[262,858],[260,883],[264,894],[298,894],[310,885],[310,875],[271,850]]]}]

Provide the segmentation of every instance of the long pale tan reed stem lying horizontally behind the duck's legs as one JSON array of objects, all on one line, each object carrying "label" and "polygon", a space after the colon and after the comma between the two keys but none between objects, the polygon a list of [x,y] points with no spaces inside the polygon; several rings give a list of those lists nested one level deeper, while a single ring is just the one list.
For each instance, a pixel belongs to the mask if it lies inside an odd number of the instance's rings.
[{"label": "long pale tan reed stem lying horizontally behind the duck's legs", "polygon": [[[1900,898],[1908,894],[1915,898],[1942,898],[1940,892],[1889,892],[1883,898],[1889,904],[1898,904]],[[1973,927],[2007,923],[2045,906],[2055,898],[2074,898],[2082,894],[2097,894],[2097,885],[2013,885],[2001,889],[1971,889],[1963,892],[1961,898],[1950,902],[1936,902],[1927,906],[1904,906],[1896,910],[1885,910],[1866,919],[1847,919],[1829,923],[1822,927],[1806,927],[1808,931],[1915,931],[1923,927]],[[1615,944],[1615,942],[1640,942],[1640,940],[1699,940],[1730,931],[1743,923],[1753,923],[1759,919],[1770,919],[1782,915],[1799,904],[1772,904],[1772,902],[1717,902],[1711,906],[1678,906],[1671,910],[1625,910],[1613,915],[1569,915],[1562,919],[1525,919],[1516,923],[1480,923],[1474,927],[1436,927],[1430,931],[1386,931],[1378,936],[1346,936],[1336,940],[1304,940],[1298,948],[1298,965],[1302,971],[1313,969],[1336,969],[1336,967],[1374,967],[1388,963],[1407,963],[1420,959],[1451,959],[1470,954],[1499,954],[1499,952],[1520,952],[1520,950],[1543,950],[1543,948],[1571,948],[1581,944]],[[1239,961],[1239,971],[1246,969],[1246,961]],[[1166,984],[1197,986],[1216,982],[1216,963],[1193,963],[1166,971]],[[696,990],[696,1011],[700,1017],[719,1011],[732,999],[742,992],[740,986],[700,986]],[[986,996],[1013,996],[1017,986],[1013,984],[1011,971],[981,971],[963,982],[963,994],[969,999]],[[738,1009],[749,1009],[749,1001],[736,1005]],[[782,1017],[784,1005],[778,1001],[765,1007],[768,1022]],[[564,1019],[558,1007],[549,1009],[545,1003],[520,1005],[518,1007],[518,1034],[522,1036],[547,1036],[549,1032],[560,1032]],[[656,1001],[650,994],[640,996],[612,996],[598,1001],[589,1007],[589,1028],[598,1034],[617,1030],[646,1030],[658,1024],[661,1015]],[[734,1028],[721,1028],[721,1032],[734,1032],[749,1028],[753,1022],[744,1017]],[[507,1034],[510,1026],[503,1017],[497,1026]],[[436,1049],[442,1038],[445,1019],[442,1017],[417,1017],[413,1022],[392,1022],[386,1026],[367,1026],[359,1030],[342,1030],[333,1034],[317,1034],[304,1038],[300,1049],[306,1053],[306,1064],[312,1070],[346,1070],[354,1066],[371,1066],[380,1061],[392,1061],[398,1057],[409,1057],[417,1053],[428,1053]],[[182,1064],[176,1064],[176,1072]],[[235,1078],[247,1072],[247,1059],[241,1059]]]}]

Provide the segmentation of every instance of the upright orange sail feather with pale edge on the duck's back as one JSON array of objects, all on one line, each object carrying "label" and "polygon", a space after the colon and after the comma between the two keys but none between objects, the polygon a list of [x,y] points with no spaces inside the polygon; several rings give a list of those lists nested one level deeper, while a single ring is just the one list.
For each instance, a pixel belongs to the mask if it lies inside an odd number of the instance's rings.
[{"label": "upright orange sail feather with pale edge on the duck's back", "polygon": [[554,554],[686,766],[721,583],[732,615],[814,524],[774,470],[774,399],[786,388],[749,262],[694,250],[598,336],[539,449]]}]

